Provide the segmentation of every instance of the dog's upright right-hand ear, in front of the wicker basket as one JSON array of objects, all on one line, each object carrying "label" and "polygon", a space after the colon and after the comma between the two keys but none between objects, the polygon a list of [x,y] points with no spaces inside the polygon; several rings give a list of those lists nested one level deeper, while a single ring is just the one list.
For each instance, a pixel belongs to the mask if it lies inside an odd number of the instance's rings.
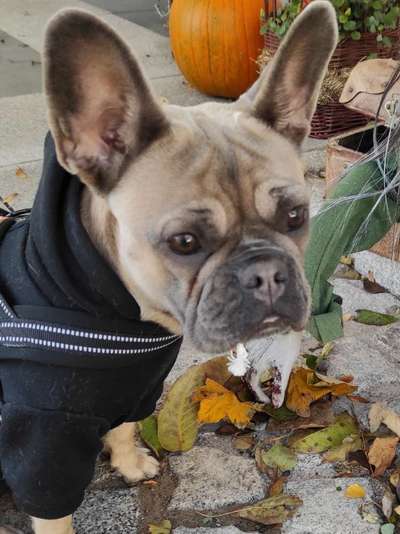
[{"label": "dog's upright right-hand ear, in front of the wicker basket", "polygon": [[239,103],[300,145],[309,134],[322,80],[338,40],[330,2],[314,1],[292,24],[274,59]]}]

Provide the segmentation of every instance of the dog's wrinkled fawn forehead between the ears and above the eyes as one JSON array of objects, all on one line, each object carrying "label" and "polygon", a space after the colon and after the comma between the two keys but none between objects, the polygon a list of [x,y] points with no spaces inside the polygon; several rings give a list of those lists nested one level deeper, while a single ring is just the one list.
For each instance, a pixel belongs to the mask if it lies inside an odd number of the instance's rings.
[{"label": "dog's wrinkled fawn forehead between the ears and above the eyes", "polygon": [[[140,213],[150,210],[147,221],[151,214],[161,224],[163,214],[189,221],[196,215],[225,234],[239,219],[268,223],[282,200],[307,203],[297,148],[249,114],[218,104],[166,106],[165,113],[169,134],[132,162],[111,194],[130,213],[140,199]],[[157,198],[155,186],[163,190]]]}]

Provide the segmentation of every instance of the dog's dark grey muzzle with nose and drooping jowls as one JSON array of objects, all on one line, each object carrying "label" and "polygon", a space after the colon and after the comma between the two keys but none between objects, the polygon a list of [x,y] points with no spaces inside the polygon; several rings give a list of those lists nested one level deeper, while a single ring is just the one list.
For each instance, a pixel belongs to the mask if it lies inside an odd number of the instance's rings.
[{"label": "dog's dark grey muzzle with nose and drooping jowls", "polygon": [[241,246],[206,282],[187,335],[201,350],[229,350],[238,342],[305,326],[308,288],[285,250]]}]

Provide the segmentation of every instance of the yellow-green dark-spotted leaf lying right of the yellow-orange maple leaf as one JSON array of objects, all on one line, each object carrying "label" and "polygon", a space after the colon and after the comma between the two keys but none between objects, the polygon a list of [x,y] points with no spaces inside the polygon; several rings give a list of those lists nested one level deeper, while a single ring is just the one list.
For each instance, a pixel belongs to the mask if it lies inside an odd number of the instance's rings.
[{"label": "yellow-green dark-spotted leaf lying right of the yellow-orange maple leaf", "polygon": [[335,423],[327,428],[313,432],[294,442],[293,448],[301,453],[324,452],[338,447],[346,437],[352,434],[358,434],[358,427],[354,419],[348,414],[341,414],[338,415]]}]

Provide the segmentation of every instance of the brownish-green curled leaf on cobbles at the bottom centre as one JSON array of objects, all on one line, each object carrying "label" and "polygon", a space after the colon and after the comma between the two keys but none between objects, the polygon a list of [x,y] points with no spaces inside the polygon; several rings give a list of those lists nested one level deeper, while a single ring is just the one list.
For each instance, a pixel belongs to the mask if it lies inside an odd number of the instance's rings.
[{"label": "brownish-green curled leaf on cobbles at the bottom centre", "polygon": [[277,525],[292,517],[302,504],[303,501],[294,495],[276,495],[234,513],[262,525]]}]

